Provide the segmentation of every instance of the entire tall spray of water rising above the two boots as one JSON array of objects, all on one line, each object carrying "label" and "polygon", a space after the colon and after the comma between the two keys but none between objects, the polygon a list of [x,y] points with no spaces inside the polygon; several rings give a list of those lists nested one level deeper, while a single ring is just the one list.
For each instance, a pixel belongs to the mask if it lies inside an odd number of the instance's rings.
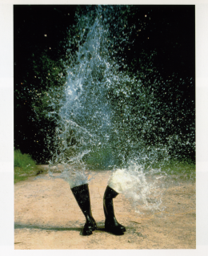
[{"label": "entire tall spray of water rising above the two boots", "polygon": [[[63,178],[73,188],[89,182],[89,169],[112,169],[110,187],[130,198],[138,212],[155,210],[162,202],[166,173],[161,167],[170,160],[173,136],[164,140],[166,127],[157,122],[166,106],[157,108],[154,91],[114,58],[112,44],[128,39],[110,38],[114,8],[119,11],[119,6],[98,6],[77,16],[64,93],[58,112],[49,113],[58,116],[50,177]],[[62,173],[54,176],[55,170]]]}]

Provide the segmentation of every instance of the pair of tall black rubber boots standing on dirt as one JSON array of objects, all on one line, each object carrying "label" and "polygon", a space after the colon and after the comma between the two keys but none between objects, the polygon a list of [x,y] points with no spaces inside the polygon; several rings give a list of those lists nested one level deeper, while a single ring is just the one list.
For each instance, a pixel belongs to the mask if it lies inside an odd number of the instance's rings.
[{"label": "pair of tall black rubber boots standing on dirt", "polygon": [[[78,185],[77,187],[72,188],[71,191],[74,194],[80,209],[82,209],[82,213],[86,217],[86,224],[82,229],[82,234],[90,235],[94,230],[97,230],[97,225],[92,216],[88,184]],[[112,234],[123,234],[126,229],[118,223],[114,215],[113,198],[117,196],[118,193],[114,191],[114,189],[111,189],[109,186],[106,187],[106,192],[103,197],[103,209],[106,217],[105,230]]]}]

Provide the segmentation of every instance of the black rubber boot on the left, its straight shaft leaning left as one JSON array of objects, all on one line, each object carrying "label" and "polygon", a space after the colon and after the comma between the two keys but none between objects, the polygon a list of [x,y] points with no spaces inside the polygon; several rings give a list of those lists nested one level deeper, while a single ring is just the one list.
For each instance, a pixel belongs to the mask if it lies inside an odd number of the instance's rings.
[{"label": "black rubber boot on the left, its straight shaft leaning left", "polygon": [[82,209],[82,213],[86,217],[86,224],[82,229],[82,234],[88,236],[92,234],[92,231],[97,229],[94,217],[92,216],[88,184],[78,185],[72,188],[71,191],[78,202],[78,206]]}]

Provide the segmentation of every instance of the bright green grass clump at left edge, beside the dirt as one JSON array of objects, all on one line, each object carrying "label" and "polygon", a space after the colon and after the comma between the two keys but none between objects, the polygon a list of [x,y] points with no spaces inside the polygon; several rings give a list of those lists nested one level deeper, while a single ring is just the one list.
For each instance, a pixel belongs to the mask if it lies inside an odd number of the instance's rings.
[{"label": "bright green grass clump at left edge, beside the dirt", "polygon": [[14,183],[26,180],[35,175],[36,171],[37,167],[30,155],[14,150]]}]

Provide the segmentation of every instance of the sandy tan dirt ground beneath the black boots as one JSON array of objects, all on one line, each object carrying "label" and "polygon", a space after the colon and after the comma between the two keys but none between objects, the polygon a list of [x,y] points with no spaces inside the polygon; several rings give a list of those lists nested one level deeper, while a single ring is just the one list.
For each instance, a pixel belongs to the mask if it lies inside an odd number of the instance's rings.
[{"label": "sandy tan dirt ground beneath the black boots", "polygon": [[[46,174],[42,174],[46,175]],[[195,184],[181,181],[162,197],[164,213],[139,215],[122,195],[114,199],[118,221],[126,226],[121,236],[104,230],[102,197],[110,172],[94,173],[90,200],[98,230],[90,236],[80,232],[85,218],[70,186],[62,179],[30,177],[14,185],[14,249],[195,249]]]}]

